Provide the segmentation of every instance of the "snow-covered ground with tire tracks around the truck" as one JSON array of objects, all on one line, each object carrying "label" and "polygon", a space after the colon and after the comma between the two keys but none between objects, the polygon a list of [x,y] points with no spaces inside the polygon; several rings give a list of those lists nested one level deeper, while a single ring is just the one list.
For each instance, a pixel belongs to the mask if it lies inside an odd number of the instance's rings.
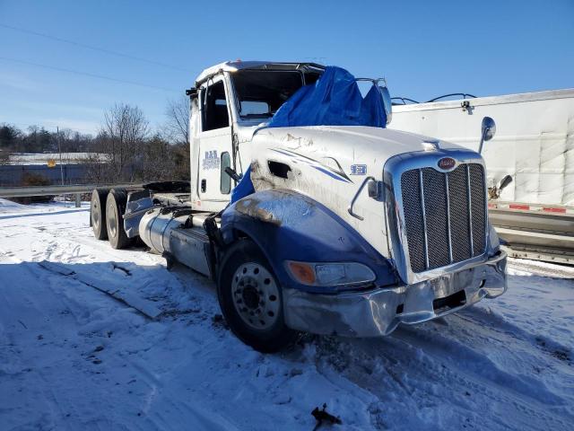
[{"label": "snow-covered ground with tire tracks around the truck", "polygon": [[574,429],[574,280],[532,273],[569,268],[516,262],[506,295],[465,312],[262,355],[211,282],[112,250],[88,214],[0,199],[2,430],[310,430],[323,403],[331,429]]}]

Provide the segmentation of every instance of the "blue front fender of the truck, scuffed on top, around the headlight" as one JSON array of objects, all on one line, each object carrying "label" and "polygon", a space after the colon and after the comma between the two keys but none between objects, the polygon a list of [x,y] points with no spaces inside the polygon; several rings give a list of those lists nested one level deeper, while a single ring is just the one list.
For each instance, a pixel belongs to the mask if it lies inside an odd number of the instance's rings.
[{"label": "blue front fender of the truck, scuffed on top, around the headlight", "polygon": [[239,199],[223,211],[221,230],[223,242],[235,241],[239,233],[256,242],[282,286],[317,293],[342,290],[300,285],[287,273],[285,260],[360,262],[373,270],[376,286],[399,282],[388,259],[341,217],[292,190],[258,191]]}]

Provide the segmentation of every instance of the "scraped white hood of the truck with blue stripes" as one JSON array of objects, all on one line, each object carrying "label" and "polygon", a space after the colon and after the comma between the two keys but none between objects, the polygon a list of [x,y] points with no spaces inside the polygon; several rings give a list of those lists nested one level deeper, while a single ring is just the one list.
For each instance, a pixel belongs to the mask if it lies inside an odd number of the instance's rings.
[{"label": "scraped white hood of the truck with blue stripes", "polygon": [[[350,216],[347,209],[366,178],[382,180],[389,158],[433,149],[432,144],[424,145],[425,141],[436,143],[442,150],[463,148],[384,128],[314,126],[259,129],[241,152],[251,163],[256,190],[291,189],[314,198],[388,256],[383,203],[363,193],[354,210],[364,216],[364,221]],[[283,166],[283,172],[274,172],[274,166]]]}]

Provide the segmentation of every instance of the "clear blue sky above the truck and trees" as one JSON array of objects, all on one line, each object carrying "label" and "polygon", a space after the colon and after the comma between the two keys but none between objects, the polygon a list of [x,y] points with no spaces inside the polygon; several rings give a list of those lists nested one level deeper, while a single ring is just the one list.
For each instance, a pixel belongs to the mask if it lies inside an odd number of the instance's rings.
[{"label": "clear blue sky above the truck and trees", "polygon": [[236,58],[317,61],[384,75],[394,96],[419,101],[448,92],[570,88],[574,0],[0,0],[0,123],[93,133],[103,111],[123,101],[159,127],[166,102],[204,67]]}]

